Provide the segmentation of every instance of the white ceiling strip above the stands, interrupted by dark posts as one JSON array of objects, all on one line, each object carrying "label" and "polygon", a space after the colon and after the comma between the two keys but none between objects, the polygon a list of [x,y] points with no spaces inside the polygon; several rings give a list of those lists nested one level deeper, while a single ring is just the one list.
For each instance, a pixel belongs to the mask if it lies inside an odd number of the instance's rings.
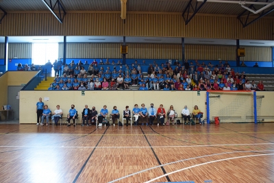
[{"label": "white ceiling strip above the stands, interrupted by dark posts", "polygon": [[[63,42],[63,36],[10,36],[9,42]],[[5,38],[0,36],[0,42]],[[123,36],[67,36],[66,42],[123,42]],[[182,38],[168,37],[126,37],[127,43],[181,44]],[[236,40],[185,38],[185,44],[195,45],[236,45]],[[274,47],[274,40],[240,40],[241,46]]]}]

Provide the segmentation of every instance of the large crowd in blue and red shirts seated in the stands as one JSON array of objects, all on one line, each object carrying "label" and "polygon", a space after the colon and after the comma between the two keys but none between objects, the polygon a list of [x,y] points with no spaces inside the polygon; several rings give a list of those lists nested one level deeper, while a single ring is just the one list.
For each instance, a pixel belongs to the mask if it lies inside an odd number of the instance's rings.
[{"label": "large crowd in blue and red shirts seated in the stands", "polygon": [[[57,60],[55,63],[58,66]],[[100,63],[104,64],[102,60]],[[198,60],[195,63],[185,60],[184,64],[174,62],[173,67],[170,62],[160,65],[153,62],[149,64],[147,76],[143,75],[140,66],[145,64],[145,60],[140,64],[136,60],[130,66],[117,62],[113,69],[110,66],[104,69],[94,60],[88,66],[88,71],[84,69],[84,64],[81,61],[66,64],[62,77],[58,74],[59,67],[56,67],[55,80],[48,89],[127,90],[129,86],[138,86],[139,90],[264,90],[262,81],[258,84],[249,81],[244,72],[235,73],[227,61],[220,61],[214,66],[204,62],[199,64]],[[88,78],[88,75],[91,77]]]}]

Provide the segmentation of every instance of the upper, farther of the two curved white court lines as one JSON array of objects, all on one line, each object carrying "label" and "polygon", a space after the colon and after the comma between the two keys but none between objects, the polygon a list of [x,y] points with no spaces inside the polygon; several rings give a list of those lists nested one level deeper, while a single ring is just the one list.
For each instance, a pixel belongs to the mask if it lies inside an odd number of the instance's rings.
[{"label": "upper, farther of the two curved white court lines", "polygon": [[163,166],[166,166],[166,165],[169,165],[169,164],[175,164],[177,162],[184,162],[184,161],[188,161],[188,160],[195,160],[195,159],[198,159],[198,158],[206,158],[206,157],[210,157],[210,156],[219,156],[219,155],[222,155],[222,154],[234,154],[234,153],[248,153],[248,152],[263,152],[263,151],[274,151],[274,150],[262,150],[262,151],[230,151],[230,152],[223,152],[223,153],[218,153],[218,154],[209,154],[209,155],[204,155],[204,156],[197,156],[197,157],[193,157],[193,158],[187,158],[187,159],[184,159],[184,160],[177,160],[175,162],[168,162],[166,164],[162,164],[162,165],[158,165],[158,166],[155,166],[155,167],[151,167],[149,169],[144,169],[142,171],[138,171],[136,173],[132,173],[132,174],[129,174],[129,175],[126,175],[122,178],[118,178],[116,180],[112,180],[111,182],[109,183],[112,183],[112,182],[117,182],[119,180],[123,180],[125,178],[129,178],[133,175],[136,175],[136,174],[139,174],[139,173],[143,173],[145,171],[149,171],[149,170],[152,170],[152,169],[157,169],[159,167],[163,167]]}]

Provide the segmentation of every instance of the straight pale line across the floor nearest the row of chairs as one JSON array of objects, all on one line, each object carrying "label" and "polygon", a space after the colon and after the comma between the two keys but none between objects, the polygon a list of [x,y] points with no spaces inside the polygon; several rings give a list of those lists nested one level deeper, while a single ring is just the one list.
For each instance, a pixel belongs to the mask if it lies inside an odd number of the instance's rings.
[{"label": "straight pale line across the floor nearest the row of chairs", "polygon": [[[223,133],[174,133],[174,134],[161,134],[161,135],[200,135],[200,134],[265,134],[265,133],[274,133],[274,132],[223,132]],[[37,135],[40,133],[18,133],[18,134],[5,134],[5,133],[0,133],[0,135]],[[101,136],[102,134],[44,134],[41,133],[42,135],[49,135],[49,136]],[[160,134],[146,134],[147,136],[160,136]],[[143,136],[143,134],[105,134],[105,136]]]}]

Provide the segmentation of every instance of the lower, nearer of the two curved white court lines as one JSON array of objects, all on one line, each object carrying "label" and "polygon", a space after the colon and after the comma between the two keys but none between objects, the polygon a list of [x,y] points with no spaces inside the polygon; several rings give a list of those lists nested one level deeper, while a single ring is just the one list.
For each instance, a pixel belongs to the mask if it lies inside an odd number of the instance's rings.
[{"label": "lower, nearer of the two curved white court lines", "polygon": [[149,180],[149,181],[147,181],[147,182],[145,182],[145,183],[153,182],[153,181],[155,181],[155,180],[158,180],[158,179],[160,179],[160,178],[165,177],[166,175],[171,175],[171,174],[177,173],[177,172],[179,172],[179,171],[184,171],[184,170],[186,170],[186,169],[192,169],[192,168],[194,168],[194,167],[199,167],[199,166],[202,166],[202,165],[205,165],[205,164],[210,164],[210,163],[213,163],[213,162],[221,162],[221,161],[226,161],[226,160],[234,160],[234,159],[238,159],[238,158],[249,158],[249,157],[254,157],[254,156],[271,156],[271,155],[274,155],[274,154],[255,154],[255,155],[248,155],[248,156],[237,156],[237,157],[233,157],[233,158],[225,158],[225,159],[221,159],[221,160],[214,160],[214,161],[210,161],[210,162],[203,162],[203,163],[201,163],[201,164],[195,164],[195,165],[193,165],[193,166],[186,167],[186,168],[184,168],[184,169],[179,169],[179,170],[176,170],[176,171],[172,171],[172,172],[170,172],[170,173],[166,173],[166,174],[161,175],[161,176],[159,176],[159,177],[157,177],[157,178],[154,178],[154,179],[152,179],[152,180]]}]

